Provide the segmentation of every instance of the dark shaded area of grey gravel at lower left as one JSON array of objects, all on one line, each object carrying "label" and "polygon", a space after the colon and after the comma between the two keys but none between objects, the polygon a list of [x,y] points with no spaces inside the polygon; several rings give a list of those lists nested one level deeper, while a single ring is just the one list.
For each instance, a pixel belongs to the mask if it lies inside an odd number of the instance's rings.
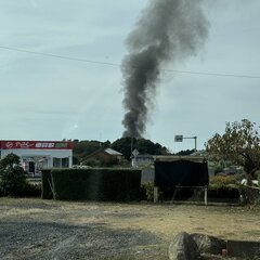
[{"label": "dark shaded area of grey gravel at lower left", "polygon": [[152,233],[102,224],[0,222],[0,259],[167,259],[159,244]]}]

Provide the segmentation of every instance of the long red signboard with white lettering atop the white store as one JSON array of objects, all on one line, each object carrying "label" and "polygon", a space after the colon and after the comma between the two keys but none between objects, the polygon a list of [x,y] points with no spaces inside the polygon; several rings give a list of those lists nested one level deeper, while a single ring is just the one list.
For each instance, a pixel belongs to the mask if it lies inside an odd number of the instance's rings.
[{"label": "long red signboard with white lettering atop the white store", "polygon": [[73,142],[0,141],[1,150],[73,150]]}]

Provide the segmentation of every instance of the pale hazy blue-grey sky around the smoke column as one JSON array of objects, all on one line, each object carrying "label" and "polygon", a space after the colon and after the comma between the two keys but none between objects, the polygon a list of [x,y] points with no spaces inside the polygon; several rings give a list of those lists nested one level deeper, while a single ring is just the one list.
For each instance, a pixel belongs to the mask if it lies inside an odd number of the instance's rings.
[{"label": "pale hazy blue-grey sky around the smoke column", "polygon": [[[194,0],[191,0],[194,1]],[[0,140],[115,141],[123,131],[125,40],[148,0],[0,0]],[[217,3],[216,3],[217,2]],[[226,121],[259,121],[260,1],[205,0],[206,44],[162,73],[144,138],[172,152],[198,148]],[[115,64],[17,52],[30,52]]]}]

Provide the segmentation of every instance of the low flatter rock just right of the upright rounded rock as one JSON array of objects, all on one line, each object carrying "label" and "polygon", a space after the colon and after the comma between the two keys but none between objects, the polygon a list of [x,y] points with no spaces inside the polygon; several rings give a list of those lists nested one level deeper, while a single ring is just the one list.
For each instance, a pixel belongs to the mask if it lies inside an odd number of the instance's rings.
[{"label": "low flatter rock just right of the upright rounded rock", "polygon": [[214,236],[205,234],[191,234],[198,247],[199,253],[220,255],[222,249],[226,249],[226,242]]}]

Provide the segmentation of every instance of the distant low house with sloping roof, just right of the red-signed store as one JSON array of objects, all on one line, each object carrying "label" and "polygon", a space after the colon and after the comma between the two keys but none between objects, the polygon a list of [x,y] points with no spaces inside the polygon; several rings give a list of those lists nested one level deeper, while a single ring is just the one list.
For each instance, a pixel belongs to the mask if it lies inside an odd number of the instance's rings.
[{"label": "distant low house with sloping roof, just right of the red-signed store", "polygon": [[100,165],[113,165],[120,164],[123,159],[123,155],[115,150],[105,148],[99,150],[86,157],[86,161],[99,161]]}]

